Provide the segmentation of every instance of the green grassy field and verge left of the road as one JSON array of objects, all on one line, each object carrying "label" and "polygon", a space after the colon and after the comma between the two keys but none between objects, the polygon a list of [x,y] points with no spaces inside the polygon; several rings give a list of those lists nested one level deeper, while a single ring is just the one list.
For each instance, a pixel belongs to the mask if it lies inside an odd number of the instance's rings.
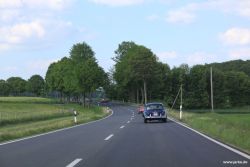
[{"label": "green grassy field and verge left of the road", "polygon": [[53,99],[0,97],[0,142],[48,132],[108,115],[104,108],[83,108],[78,104],[60,104]]}]

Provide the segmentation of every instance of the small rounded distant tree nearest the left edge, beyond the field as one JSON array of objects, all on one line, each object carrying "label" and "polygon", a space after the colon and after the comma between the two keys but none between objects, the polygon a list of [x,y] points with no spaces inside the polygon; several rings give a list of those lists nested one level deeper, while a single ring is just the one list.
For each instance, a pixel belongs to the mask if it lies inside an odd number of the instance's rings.
[{"label": "small rounded distant tree nearest the left edge, beyond the field", "polygon": [[7,83],[10,86],[10,93],[14,96],[19,96],[26,91],[27,81],[20,77],[10,77],[7,79]]}]

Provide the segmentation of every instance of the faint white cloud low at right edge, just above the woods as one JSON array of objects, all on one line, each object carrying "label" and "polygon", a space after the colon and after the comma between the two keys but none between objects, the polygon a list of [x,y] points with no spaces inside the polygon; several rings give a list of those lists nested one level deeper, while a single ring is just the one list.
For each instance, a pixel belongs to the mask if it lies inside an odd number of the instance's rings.
[{"label": "faint white cloud low at right edge, just above the woods", "polygon": [[250,59],[250,48],[239,48],[229,51],[229,56],[231,59]]}]

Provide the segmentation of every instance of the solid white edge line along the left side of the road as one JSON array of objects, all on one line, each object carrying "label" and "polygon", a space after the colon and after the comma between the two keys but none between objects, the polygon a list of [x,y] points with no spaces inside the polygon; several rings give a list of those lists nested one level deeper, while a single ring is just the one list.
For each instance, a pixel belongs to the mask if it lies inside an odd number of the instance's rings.
[{"label": "solid white edge line along the left side of the road", "polygon": [[0,143],[0,146],[6,145],[6,144],[11,144],[11,143],[16,143],[16,142],[19,142],[19,141],[28,140],[28,139],[32,139],[32,138],[36,138],[36,137],[40,137],[40,136],[44,136],[44,135],[48,135],[48,134],[52,134],[52,133],[64,131],[64,130],[73,129],[73,128],[76,128],[76,127],[79,127],[79,126],[84,126],[84,125],[96,123],[96,122],[99,122],[99,121],[102,121],[104,119],[107,119],[107,118],[111,117],[113,114],[114,114],[114,112],[113,112],[113,110],[111,110],[111,114],[110,115],[108,115],[108,116],[106,116],[106,117],[104,117],[102,119],[99,119],[99,120],[95,120],[95,121],[91,121],[91,122],[86,122],[86,123],[83,123],[83,124],[74,125],[74,126],[71,126],[71,127],[62,128],[62,129],[58,129],[58,130],[50,131],[50,132],[47,132],[47,133],[42,133],[42,134],[30,136],[30,137],[25,137],[25,138],[21,138],[21,139],[17,139],[17,140],[11,140],[11,141],[8,141],[8,142],[5,142],[5,143]]}]

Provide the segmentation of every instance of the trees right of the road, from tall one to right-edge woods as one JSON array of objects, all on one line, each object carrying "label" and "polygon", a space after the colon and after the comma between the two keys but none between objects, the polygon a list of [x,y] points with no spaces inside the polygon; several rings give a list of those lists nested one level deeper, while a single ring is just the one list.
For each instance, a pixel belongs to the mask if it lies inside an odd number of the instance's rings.
[{"label": "trees right of the road, from tall one to right-edge woods", "polygon": [[[210,67],[213,67],[214,105],[217,108],[250,104],[250,61],[231,61],[170,69],[152,51],[134,42],[122,42],[115,51],[109,96],[147,102],[161,100],[172,105],[183,85],[186,108],[210,107]],[[178,103],[178,101],[177,101]],[[178,106],[178,104],[176,105]]]}]

